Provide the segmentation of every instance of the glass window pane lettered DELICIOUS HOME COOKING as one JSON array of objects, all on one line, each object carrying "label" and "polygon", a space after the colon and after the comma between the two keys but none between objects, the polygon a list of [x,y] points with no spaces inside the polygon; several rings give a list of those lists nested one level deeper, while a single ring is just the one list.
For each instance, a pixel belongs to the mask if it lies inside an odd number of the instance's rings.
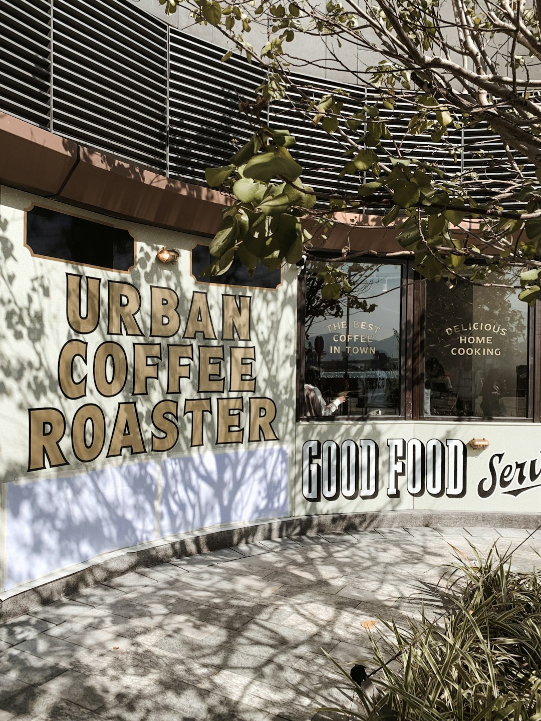
[{"label": "glass window pane lettered DELICIOUS HOME COOKING", "polygon": [[528,306],[515,290],[426,284],[424,415],[528,417],[528,370]]}]

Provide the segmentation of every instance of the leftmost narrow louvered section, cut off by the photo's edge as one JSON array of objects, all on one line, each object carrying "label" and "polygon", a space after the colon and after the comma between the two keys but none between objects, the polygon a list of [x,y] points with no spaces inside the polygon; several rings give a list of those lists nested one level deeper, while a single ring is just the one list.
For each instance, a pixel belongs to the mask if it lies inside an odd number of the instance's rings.
[{"label": "leftmost narrow louvered section, cut off by the photo's edge", "polygon": [[0,0],[0,110],[48,127],[50,0]]}]

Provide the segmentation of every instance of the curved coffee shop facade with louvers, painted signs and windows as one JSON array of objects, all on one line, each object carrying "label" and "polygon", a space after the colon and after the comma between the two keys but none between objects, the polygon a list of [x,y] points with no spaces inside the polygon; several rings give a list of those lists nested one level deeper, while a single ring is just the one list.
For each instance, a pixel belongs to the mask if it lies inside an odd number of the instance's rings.
[{"label": "curved coffee shop facade with louvers, painted signs and windows", "polygon": [[[0,1],[0,23],[4,597],[226,524],[537,526],[537,309],[423,282],[371,208],[353,247],[394,255],[344,264],[343,301],[317,280],[340,236],[302,269],[209,280],[227,199],[204,168],[249,135],[258,71],[137,6]],[[323,186],[325,143],[300,149]],[[309,373],[346,398],[331,415],[307,417]]]}]

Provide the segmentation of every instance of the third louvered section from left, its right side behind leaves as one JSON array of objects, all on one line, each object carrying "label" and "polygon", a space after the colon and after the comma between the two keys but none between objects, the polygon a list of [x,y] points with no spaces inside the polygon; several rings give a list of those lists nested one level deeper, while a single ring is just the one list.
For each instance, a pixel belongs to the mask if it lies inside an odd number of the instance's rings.
[{"label": "third louvered section from left, its right side behind leaves", "polygon": [[169,173],[205,181],[205,168],[226,165],[253,133],[239,100],[251,101],[263,72],[225,50],[170,29]]}]

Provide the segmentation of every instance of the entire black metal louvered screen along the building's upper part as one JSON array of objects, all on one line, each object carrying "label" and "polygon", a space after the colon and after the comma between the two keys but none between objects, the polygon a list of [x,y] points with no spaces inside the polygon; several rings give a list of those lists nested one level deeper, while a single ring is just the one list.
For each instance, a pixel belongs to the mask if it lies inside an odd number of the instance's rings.
[{"label": "entire black metal louvered screen along the building's upper part", "polygon": [[[224,52],[122,0],[0,0],[0,112],[201,184],[206,167],[229,162],[252,134],[239,101],[251,102],[263,81],[263,71],[239,56],[222,63]],[[263,112],[271,126],[296,137],[293,153],[308,185],[322,194],[354,193],[362,174],[340,178],[348,146],[303,115],[303,97],[319,100],[328,83],[292,78],[298,87],[289,97],[297,107],[278,101]],[[343,89],[346,115],[377,103],[371,89]],[[395,110],[379,107],[393,135],[382,146],[397,142],[405,156],[436,160],[449,177],[477,174],[478,203],[501,193],[511,177],[501,139],[483,125],[452,131],[449,143],[463,148],[453,159],[429,133],[406,136],[412,99],[402,94]],[[532,166],[513,157],[532,176]],[[359,211],[379,213],[390,202],[386,193],[374,193]]]}]

